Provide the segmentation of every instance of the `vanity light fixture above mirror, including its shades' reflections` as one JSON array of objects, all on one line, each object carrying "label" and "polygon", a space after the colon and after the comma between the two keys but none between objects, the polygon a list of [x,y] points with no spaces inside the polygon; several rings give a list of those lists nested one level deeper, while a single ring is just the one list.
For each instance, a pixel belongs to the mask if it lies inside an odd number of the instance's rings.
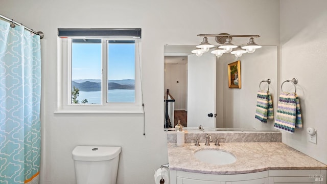
[{"label": "vanity light fixture above mirror, including its shades' reflections", "polygon": [[[216,38],[216,42],[220,43],[215,50],[211,53],[216,54],[217,57],[222,56],[224,53],[234,54],[236,57],[241,57],[244,53],[253,53],[255,49],[261,48],[260,45],[254,42],[254,38],[260,37],[260,35],[230,35],[228,33],[220,33],[220,34],[198,34],[198,36],[204,36],[203,41],[196,46],[196,48],[200,48],[201,54],[199,50],[193,50],[192,53],[196,53],[197,56],[202,56],[203,53],[208,52],[211,48],[215,47],[215,45],[210,44],[208,42],[207,37],[213,36]],[[249,42],[244,46],[238,46],[231,43],[232,37],[249,37]]]}]

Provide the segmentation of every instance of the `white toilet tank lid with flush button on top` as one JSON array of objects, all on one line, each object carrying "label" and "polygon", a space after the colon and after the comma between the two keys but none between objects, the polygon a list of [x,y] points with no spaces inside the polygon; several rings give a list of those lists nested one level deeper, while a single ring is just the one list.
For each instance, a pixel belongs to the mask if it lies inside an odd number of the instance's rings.
[{"label": "white toilet tank lid with flush button on top", "polygon": [[77,146],[72,154],[74,160],[81,161],[103,161],[119,156],[119,146]]}]

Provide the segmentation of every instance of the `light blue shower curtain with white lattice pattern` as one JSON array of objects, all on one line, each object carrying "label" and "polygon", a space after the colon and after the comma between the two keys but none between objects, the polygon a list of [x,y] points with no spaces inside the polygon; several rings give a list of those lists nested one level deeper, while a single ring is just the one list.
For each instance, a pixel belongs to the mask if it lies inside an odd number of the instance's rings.
[{"label": "light blue shower curtain with white lattice pattern", "polygon": [[38,183],[40,37],[0,20],[0,183]]}]

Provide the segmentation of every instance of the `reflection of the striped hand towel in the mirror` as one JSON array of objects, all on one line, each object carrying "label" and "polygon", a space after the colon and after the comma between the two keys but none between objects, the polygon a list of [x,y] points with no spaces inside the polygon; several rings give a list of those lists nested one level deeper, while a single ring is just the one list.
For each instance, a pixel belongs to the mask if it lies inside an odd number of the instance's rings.
[{"label": "reflection of the striped hand towel in the mirror", "polygon": [[259,90],[256,98],[255,119],[267,123],[267,119],[274,119],[272,100],[269,91]]}]

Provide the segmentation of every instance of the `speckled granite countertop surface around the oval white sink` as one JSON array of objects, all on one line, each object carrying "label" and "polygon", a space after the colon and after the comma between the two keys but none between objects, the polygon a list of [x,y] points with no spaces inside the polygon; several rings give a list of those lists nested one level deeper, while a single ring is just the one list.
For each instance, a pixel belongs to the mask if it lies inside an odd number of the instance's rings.
[{"label": "speckled granite countertop surface around the oval white sink", "polygon": [[[244,174],[266,170],[312,170],[327,169],[327,166],[283,143],[220,143],[221,146],[184,147],[168,143],[169,169],[203,174]],[[221,149],[237,157],[227,165],[206,164],[195,158],[194,152],[202,149]]]}]

